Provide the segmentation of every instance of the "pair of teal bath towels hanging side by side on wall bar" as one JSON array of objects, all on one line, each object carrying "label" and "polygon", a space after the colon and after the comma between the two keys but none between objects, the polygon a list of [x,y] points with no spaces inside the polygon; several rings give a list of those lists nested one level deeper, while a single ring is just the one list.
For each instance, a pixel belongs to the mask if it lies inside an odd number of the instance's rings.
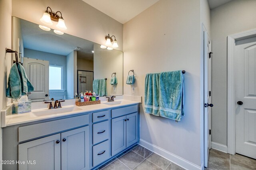
[{"label": "pair of teal bath towels hanging side by side on wall bar", "polygon": [[184,116],[182,71],[148,73],[145,79],[145,112],[180,121]]}]

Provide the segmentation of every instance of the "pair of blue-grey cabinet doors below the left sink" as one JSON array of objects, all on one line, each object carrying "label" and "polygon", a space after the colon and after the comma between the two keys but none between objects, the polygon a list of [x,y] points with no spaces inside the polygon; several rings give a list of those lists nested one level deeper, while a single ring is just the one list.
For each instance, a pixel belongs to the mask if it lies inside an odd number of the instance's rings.
[{"label": "pair of blue-grey cabinet doors below the left sink", "polygon": [[88,154],[89,127],[86,126],[19,144],[18,158],[26,162],[19,164],[19,170],[88,170]]}]

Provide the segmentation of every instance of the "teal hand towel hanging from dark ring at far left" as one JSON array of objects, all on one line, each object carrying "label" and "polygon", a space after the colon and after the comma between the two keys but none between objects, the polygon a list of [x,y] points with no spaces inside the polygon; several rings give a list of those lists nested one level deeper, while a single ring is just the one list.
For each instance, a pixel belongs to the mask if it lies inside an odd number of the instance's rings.
[{"label": "teal hand towel hanging from dark ring at far left", "polygon": [[14,63],[8,77],[6,97],[19,99],[31,91],[34,91],[34,87],[28,80],[24,67],[20,63]]}]

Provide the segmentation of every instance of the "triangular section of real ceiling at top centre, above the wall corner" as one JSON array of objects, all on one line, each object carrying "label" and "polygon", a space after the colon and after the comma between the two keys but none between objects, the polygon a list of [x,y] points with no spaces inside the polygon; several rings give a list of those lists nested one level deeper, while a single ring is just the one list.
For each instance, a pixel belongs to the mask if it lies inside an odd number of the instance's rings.
[{"label": "triangular section of real ceiling at top centre, above the wall corner", "polygon": [[82,0],[124,24],[159,0]]}]

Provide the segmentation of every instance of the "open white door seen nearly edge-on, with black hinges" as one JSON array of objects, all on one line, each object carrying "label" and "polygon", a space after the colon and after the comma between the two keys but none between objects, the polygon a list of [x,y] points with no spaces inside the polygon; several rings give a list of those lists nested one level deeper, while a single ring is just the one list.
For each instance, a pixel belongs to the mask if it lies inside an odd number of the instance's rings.
[{"label": "open white door seen nearly edge-on, with black hinges", "polygon": [[211,42],[207,32],[204,32],[204,166],[208,166],[209,150],[211,148],[211,89],[212,89],[212,58],[210,57]]}]

